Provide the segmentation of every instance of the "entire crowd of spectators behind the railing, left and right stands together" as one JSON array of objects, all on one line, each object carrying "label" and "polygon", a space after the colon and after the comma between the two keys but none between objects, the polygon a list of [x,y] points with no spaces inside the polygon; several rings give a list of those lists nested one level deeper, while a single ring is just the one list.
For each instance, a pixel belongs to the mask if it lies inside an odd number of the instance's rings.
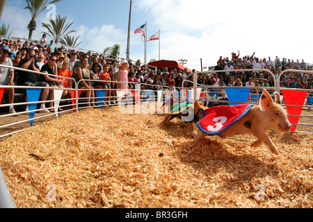
[{"label": "entire crowd of spectators behind the railing, left and right stands together", "polygon": [[[6,50],[2,50],[2,49]],[[92,53],[92,51],[75,51],[72,49],[65,49],[65,46],[57,48],[54,41],[51,40],[48,44],[47,38],[42,35],[40,41],[29,42],[26,40],[0,40],[1,56],[3,58],[7,55],[7,60],[14,67],[22,67],[23,69],[29,69],[45,73],[34,74],[29,71],[15,71],[6,70],[10,85],[27,85],[38,87],[62,87],[64,88],[63,96],[70,95],[70,90],[74,88],[72,81],[67,78],[74,78],[79,83],[80,89],[86,90],[86,97],[88,105],[95,105],[95,91],[92,89],[110,89],[107,90],[105,104],[114,104],[113,98],[116,96],[114,89],[119,88],[119,82],[122,79],[121,76],[127,75],[127,84],[123,85],[123,88],[134,89],[136,83],[141,83],[141,89],[154,89],[154,90],[170,90],[175,87],[178,89],[183,87],[193,86],[193,73],[188,72],[187,69],[181,70],[178,68],[159,68],[148,67],[142,65],[141,60],[132,62],[126,60],[127,66],[123,66],[122,62],[113,57],[106,58],[103,54]],[[2,51],[4,53],[2,53]],[[211,74],[198,74],[198,84],[200,85],[214,85],[214,86],[242,86],[242,87],[273,87],[274,78],[266,71],[259,71],[257,69],[270,70],[275,78],[280,76],[280,73],[285,69],[300,69],[300,70],[312,70],[312,67],[302,60],[299,62],[296,60],[290,60],[286,58],[280,58],[276,56],[275,60],[263,58],[259,59],[255,57],[255,53],[252,56],[239,57],[236,53],[232,53],[232,58],[220,58],[217,61],[217,65],[214,71],[221,70],[239,70],[232,72],[213,72]],[[4,64],[4,61],[2,61]],[[6,61],[8,64],[8,61]],[[10,63],[10,64],[11,64]],[[256,69],[255,71],[244,71],[244,69]],[[122,74],[120,71],[123,71]],[[51,76],[54,75],[54,76]],[[58,77],[56,77],[58,76]],[[7,79],[8,80],[8,79]],[[304,88],[312,89],[312,74],[305,74],[302,72],[289,71],[280,78],[281,87],[291,88]],[[42,91],[42,101],[46,101],[47,97],[54,99],[54,90],[44,89]],[[7,94],[9,92],[6,92]],[[13,93],[13,95],[12,95]],[[14,92],[10,91],[10,98],[14,96]],[[50,108],[53,107],[53,103],[50,103]],[[53,112],[54,109],[45,109],[45,103],[42,103],[40,107],[42,112]],[[27,109],[27,108],[26,108]],[[10,112],[11,112],[10,107]],[[13,111],[11,113],[15,113]]]}]

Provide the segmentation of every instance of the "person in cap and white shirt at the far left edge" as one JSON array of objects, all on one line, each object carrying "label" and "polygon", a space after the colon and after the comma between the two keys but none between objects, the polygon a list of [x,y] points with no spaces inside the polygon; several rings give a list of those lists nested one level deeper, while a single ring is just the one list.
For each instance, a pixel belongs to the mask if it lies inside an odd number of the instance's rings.
[{"label": "person in cap and white shirt at the far left edge", "polygon": [[[6,65],[8,67],[13,67],[13,62],[8,58],[8,54],[10,53],[8,46],[1,47],[1,57],[0,62],[1,65]],[[14,69],[0,67],[0,85],[10,85],[14,86]],[[6,88],[4,90],[4,94],[8,94],[10,105],[10,114],[16,114],[13,103],[14,103],[14,88]]]}]

